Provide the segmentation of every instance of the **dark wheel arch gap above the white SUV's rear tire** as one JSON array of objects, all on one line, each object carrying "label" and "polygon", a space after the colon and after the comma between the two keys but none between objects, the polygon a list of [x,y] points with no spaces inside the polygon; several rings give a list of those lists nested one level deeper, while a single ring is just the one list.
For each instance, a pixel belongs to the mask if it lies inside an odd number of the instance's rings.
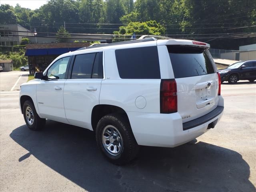
[{"label": "dark wheel arch gap above the white SUV's rear tire", "polygon": [[[99,120],[103,116],[105,116],[107,114],[111,114],[111,113],[124,114],[124,116],[126,116],[126,118],[129,121],[127,113],[121,107],[114,106],[114,105],[108,105],[108,104],[99,104],[99,105],[94,106],[94,108],[92,109],[92,115],[91,115],[92,129],[95,131]],[[130,123],[130,121],[129,121],[129,123]]]}]

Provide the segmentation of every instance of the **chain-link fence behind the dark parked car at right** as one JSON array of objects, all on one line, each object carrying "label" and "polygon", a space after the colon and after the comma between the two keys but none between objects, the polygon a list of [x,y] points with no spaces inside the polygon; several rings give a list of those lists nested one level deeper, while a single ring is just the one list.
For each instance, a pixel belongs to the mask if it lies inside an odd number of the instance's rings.
[{"label": "chain-link fence behind the dark parked car at right", "polygon": [[213,58],[230,59],[230,60],[256,60],[256,50],[224,50],[210,49]]}]

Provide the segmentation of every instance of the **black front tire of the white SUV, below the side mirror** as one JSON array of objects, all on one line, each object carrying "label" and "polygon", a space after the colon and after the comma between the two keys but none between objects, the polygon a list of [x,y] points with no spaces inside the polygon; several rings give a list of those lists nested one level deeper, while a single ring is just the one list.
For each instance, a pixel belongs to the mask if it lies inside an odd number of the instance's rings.
[{"label": "black front tire of the white SUV, below the side mirror", "polygon": [[[32,111],[32,114],[31,113],[28,114],[30,110]],[[23,117],[24,117],[24,120],[25,120],[28,128],[30,128],[33,131],[37,131],[37,130],[41,130],[44,127],[46,120],[43,118],[40,118],[38,116],[32,101],[26,100],[24,102],[23,107],[22,107],[22,112],[23,112]],[[26,112],[28,112],[28,113],[26,113]],[[31,118],[29,118],[29,117],[31,117]],[[32,118],[33,118],[33,122],[31,121]]]}]

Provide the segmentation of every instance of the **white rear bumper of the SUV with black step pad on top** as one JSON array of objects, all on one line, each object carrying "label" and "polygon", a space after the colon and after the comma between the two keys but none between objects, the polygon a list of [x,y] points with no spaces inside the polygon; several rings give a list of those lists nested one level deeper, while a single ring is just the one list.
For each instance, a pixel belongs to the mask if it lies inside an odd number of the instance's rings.
[{"label": "white rear bumper of the SUV with black step pad on top", "polygon": [[[209,124],[214,122],[215,125],[222,117],[223,98],[219,97],[221,102],[216,109],[184,124],[179,113],[127,112],[137,143],[145,146],[176,147],[199,137],[209,130]],[[184,127],[189,128],[183,130]]]}]

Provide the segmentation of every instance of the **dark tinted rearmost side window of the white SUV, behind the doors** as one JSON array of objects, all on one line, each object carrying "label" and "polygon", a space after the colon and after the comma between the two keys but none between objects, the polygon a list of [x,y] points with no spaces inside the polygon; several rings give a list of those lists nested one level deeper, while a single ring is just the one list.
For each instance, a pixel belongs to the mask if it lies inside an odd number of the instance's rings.
[{"label": "dark tinted rearmost side window of the white SUV, behind the doors", "polygon": [[115,51],[119,76],[122,79],[160,79],[156,46]]}]

